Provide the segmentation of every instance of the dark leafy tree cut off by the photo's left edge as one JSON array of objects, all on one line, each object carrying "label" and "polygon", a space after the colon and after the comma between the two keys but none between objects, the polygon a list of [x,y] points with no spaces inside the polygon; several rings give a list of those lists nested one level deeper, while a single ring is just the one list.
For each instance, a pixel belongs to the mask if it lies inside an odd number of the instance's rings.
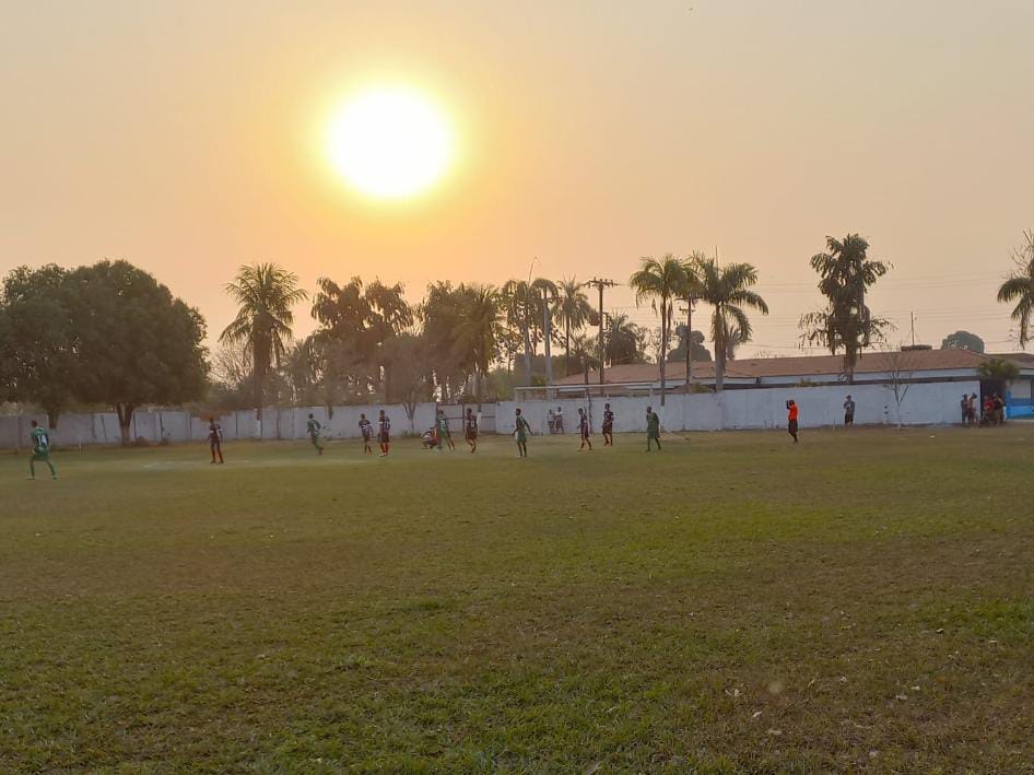
[{"label": "dark leafy tree cut off by the photo's left edge", "polygon": [[32,401],[51,428],[72,401],[82,368],[69,315],[68,272],[55,265],[19,267],[0,295],[0,398]]}]

